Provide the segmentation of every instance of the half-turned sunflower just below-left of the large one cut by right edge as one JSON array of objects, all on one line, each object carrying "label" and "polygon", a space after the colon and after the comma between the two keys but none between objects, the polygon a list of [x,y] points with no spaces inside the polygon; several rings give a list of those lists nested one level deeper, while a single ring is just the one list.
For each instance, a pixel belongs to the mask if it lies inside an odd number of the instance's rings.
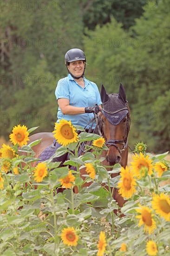
[{"label": "half-turned sunflower just below-left of the large one cut by right edge", "polygon": [[156,228],[156,222],[153,220],[153,215],[151,214],[152,210],[140,204],[139,207],[142,208],[136,209],[137,213],[140,213],[140,215],[136,216],[137,219],[140,219],[139,226],[144,224],[145,233],[149,232],[149,234],[151,234]]}]

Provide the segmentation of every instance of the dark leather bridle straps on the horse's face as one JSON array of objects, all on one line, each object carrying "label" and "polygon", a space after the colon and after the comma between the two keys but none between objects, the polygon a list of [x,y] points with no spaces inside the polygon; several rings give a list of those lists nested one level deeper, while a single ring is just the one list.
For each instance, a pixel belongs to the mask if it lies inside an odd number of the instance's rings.
[{"label": "dark leather bridle straps on the horse's face", "polygon": [[[121,112],[121,111],[123,111],[125,109],[128,110],[128,108],[121,108],[121,109],[119,109],[119,110],[117,110],[115,112],[109,112],[109,111],[105,110],[105,108],[102,108],[101,112],[104,115],[105,115],[105,112],[108,113],[108,114],[116,114],[116,113]],[[105,117],[106,117],[106,115],[105,115]],[[106,119],[109,122],[111,122],[107,117],[106,117]],[[115,148],[118,149],[119,154],[122,155],[122,153],[124,152],[124,150],[127,148],[127,145],[128,145],[128,134],[129,134],[129,130],[130,130],[130,125],[131,125],[131,117],[130,117],[129,111],[128,111],[128,113],[127,113],[126,131],[125,131],[124,139],[123,140],[116,140],[116,139],[106,140],[105,144],[108,145],[108,148],[110,146],[114,146]],[[98,127],[99,135],[104,137],[105,136],[104,135],[104,129],[102,127],[102,130],[101,130],[101,128],[98,126],[98,121],[97,121],[97,127]],[[117,144],[123,145],[123,148],[122,149],[118,148]]]}]

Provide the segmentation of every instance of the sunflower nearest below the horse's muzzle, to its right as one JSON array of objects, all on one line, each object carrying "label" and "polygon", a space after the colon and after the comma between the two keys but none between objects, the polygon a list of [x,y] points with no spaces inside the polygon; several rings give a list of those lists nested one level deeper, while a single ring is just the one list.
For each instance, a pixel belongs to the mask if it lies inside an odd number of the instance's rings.
[{"label": "sunflower nearest below the horse's muzzle, to its right", "polygon": [[118,193],[123,197],[131,198],[133,193],[136,192],[135,186],[137,185],[136,180],[133,178],[133,173],[127,166],[125,169],[121,167],[120,176],[120,182],[118,182]]}]

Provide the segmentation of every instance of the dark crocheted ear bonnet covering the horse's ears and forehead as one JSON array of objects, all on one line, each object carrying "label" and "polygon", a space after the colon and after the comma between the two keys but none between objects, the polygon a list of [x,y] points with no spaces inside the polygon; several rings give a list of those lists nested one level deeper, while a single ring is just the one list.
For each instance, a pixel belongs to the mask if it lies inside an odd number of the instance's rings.
[{"label": "dark crocheted ear bonnet covering the horse's ears and forehead", "polygon": [[113,125],[117,125],[128,114],[126,105],[126,93],[122,84],[118,94],[107,94],[105,87],[101,87],[101,100],[103,102],[102,113]]}]

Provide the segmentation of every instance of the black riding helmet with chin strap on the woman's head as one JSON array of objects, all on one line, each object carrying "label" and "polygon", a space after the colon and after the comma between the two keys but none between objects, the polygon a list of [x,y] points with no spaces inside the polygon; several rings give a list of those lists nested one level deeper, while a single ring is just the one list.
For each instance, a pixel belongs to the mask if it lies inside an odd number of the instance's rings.
[{"label": "black riding helmet with chin strap on the woman's head", "polygon": [[[73,62],[73,61],[86,61],[84,52],[78,48],[74,48],[74,49],[71,49],[68,52],[66,52],[66,54],[65,54],[66,67],[70,64],[70,62]],[[67,67],[67,70],[68,70],[68,67]],[[68,70],[68,72],[70,73],[69,70]],[[81,76],[74,76],[72,73],[70,73],[70,74],[73,78],[79,79],[81,77],[84,77],[85,68],[84,68],[83,74]]]}]

